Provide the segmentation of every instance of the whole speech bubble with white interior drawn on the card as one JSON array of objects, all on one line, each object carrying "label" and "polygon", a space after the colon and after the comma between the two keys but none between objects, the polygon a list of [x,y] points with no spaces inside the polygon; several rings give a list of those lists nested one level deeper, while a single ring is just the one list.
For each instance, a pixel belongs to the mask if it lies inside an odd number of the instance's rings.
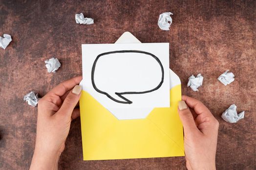
[{"label": "whole speech bubble with white interior drawn on the card", "polygon": [[[150,82],[151,75],[156,75],[154,82]],[[109,51],[96,57],[91,82],[97,92],[112,101],[131,104],[132,101],[123,95],[144,94],[159,89],[164,82],[164,68],[158,57],[146,51]],[[145,83],[147,89],[144,89]]]}]

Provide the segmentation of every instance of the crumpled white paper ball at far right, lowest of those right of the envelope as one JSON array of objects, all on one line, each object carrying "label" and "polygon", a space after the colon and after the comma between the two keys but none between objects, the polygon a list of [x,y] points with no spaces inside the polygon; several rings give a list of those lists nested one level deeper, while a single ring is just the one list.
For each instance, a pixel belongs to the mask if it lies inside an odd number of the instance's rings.
[{"label": "crumpled white paper ball at far right, lowest of those right of the envelope", "polygon": [[222,113],[221,118],[230,123],[236,123],[238,120],[244,118],[244,111],[237,114],[236,105],[232,104],[224,113]]}]

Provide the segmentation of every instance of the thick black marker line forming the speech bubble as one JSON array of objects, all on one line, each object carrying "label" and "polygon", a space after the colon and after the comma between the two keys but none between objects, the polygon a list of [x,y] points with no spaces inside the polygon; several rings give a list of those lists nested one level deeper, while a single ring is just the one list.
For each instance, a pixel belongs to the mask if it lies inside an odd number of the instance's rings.
[{"label": "thick black marker line forming the speech bubble", "polygon": [[[108,54],[114,54],[114,53],[126,53],[126,52],[136,52],[136,53],[143,53],[143,54],[147,54],[147,55],[150,55],[151,57],[153,57],[157,62],[158,64],[160,65],[161,67],[161,71],[162,71],[162,78],[161,78],[161,82],[159,83],[159,85],[157,85],[155,88],[151,89],[151,90],[147,90],[147,91],[141,91],[141,92],[121,92],[121,93],[118,93],[118,92],[115,92],[115,94],[117,96],[119,96],[120,98],[124,99],[126,102],[124,101],[119,101],[119,100],[116,100],[115,98],[113,98],[112,96],[110,96],[107,92],[104,92],[104,91],[101,91],[100,89],[98,89],[94,83],[94,72],[95,72],[95,67],[96,67],[96,63],[97,61],[99,60],[99,58],[101,56],[104,56],[104,55],[108,55]],[[99,93],[102,93],[102,94],[105,94],[109,99],[111,99],[112,101],[115,101],[115,102],[119,102],[119,103],[124,103],[124,104],[131,104],[132,102],[130,100],[128,100],[127,98],[125,98],[124,94],[144,94],[144,93],[150,93],[152,91],[155,91],[157,90],[158,88],[160,88],[162,86],[164,82],[164,68],[163,68],[163,65],[161,63],[161,61],[159,60],[158,57],[156,57],[154,54],[151,54],[149,52],[146,52],[146,51],[138,51],[138,50],[121,50],[121,51],[109,51],[109,52],[104,52],[104,53],[101,53],[99,54],[96,59],[94,60],[94,63],[92,65],[92,69],[91,69],[91,83],[92,83],[92,86],[93,88],[99,92]]]}]

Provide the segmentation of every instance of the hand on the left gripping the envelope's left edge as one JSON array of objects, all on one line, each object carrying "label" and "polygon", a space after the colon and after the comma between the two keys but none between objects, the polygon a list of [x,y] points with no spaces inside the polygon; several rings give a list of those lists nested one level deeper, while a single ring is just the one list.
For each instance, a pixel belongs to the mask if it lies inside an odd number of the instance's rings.
[{"label": "hand on the left gripping the envelope's left edge", "polygon": [[69,79],[39,100],[36,147],[30,170],[57,170],[70,123],[80,116],[79,108],[75,107],[81,96],[81,80],[82,77]]}]

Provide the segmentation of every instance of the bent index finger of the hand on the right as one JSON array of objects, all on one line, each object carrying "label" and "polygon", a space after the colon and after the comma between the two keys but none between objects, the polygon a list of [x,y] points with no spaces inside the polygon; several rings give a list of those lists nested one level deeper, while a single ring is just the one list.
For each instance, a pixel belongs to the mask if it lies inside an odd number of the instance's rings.
[{"label": "bent index finger of the hand on the right", "polygon": [[204,114],[205,116],[213,116],[202,102],[189,96],[182,96],[182,100],[185,101],[190,108],[194,109],[197,115]]}]

